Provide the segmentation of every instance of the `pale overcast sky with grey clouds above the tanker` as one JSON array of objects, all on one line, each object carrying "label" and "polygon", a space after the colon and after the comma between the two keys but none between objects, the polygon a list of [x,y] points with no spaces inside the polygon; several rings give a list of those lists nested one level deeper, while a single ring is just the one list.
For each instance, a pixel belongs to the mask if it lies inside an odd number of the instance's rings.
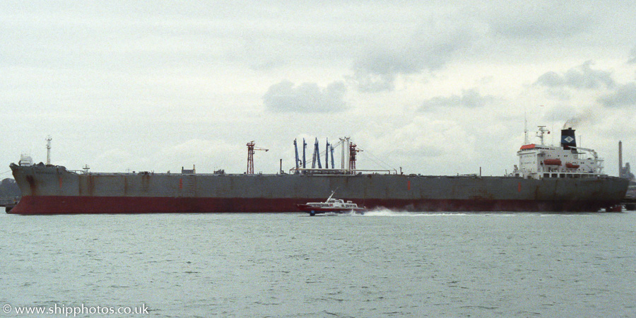
[{"label": "pale overcast sky with grey clouds above the tanker", "polygon": [[633,16],[630,1],[2,1],[0,172],[45,161],[47,135],[69,169],[201,172],[244,172],[251,140],[270,149],[255,170],[276,172],[295,138],[351,136],[358,167],[502,175],[526,112],[531,131],[587,116],[580,141],[616,175],[618,141],[636,153]]}]

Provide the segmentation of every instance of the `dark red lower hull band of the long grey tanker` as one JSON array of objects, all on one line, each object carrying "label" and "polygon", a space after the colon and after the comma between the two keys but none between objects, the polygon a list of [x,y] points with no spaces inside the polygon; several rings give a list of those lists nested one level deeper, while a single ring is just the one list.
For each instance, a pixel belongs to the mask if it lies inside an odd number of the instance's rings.
[{"label": "dark red lower hull band of the long grey tanker", "polygon": [[[77,213],[223,213],[223,212],[298,212],[298,204],[316,198],[170,198],[126,196],[23,196],[13,214]],[[596,212],[612,208],[611,201],[536,201],[536,200],[447,200],[447,199],[366,199],[367,210],[388,208],[397,211],[539,211]]]}]

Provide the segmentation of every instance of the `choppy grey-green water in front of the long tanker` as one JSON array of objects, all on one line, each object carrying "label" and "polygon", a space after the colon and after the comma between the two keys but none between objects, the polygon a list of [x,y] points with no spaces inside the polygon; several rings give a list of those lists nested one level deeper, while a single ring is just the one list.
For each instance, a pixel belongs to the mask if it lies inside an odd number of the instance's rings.
[{"label": "choppy grey-green water in front of the long tanker", "polygon": [[635,227],[636,213],[1,213],[0,305],[635,317]]}]

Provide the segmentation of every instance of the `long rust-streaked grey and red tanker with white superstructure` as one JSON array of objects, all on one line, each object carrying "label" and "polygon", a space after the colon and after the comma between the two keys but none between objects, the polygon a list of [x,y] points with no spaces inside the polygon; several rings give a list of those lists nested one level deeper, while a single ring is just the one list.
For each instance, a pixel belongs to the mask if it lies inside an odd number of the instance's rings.
[{"label": "long rust-streaked grey and red tanker with white superstructure", "polygon": [[[10,213],[298,212],[298,204],[322,201],[334,189],[370,210],[594,212],[619,206],[628,179],[603,174],[603,160],[576,146],[574,129],[561,131],[559,146],[543,145],[546,130],[539,130],[541,143],[526,137],[517,152],[519,165],[501,177],[355,170],[355,145],[348,139],[346,167],[343,159],[343,167],[333,169],[333,148],[331,169],[299,167],[297,148],[296,167],[271,175],[194,169],[96,173],[22,158],[11,164],[22,198]],[[249,146],[248,159],[254,143]]]}]

